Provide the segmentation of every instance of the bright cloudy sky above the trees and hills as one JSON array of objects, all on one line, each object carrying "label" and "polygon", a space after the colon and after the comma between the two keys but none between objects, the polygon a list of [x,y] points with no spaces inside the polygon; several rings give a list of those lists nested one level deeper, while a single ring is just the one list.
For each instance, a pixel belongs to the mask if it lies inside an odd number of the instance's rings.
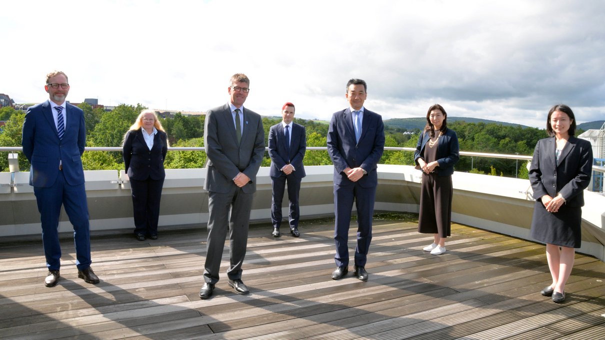
[{"label": "bright cloudy sky above the trees and hills", "polygon": [[605,2],[7,1],[0,92],[47,99],[66,72],[73,102],[206,111],[244,72],[244,106],[329,120],[350,78],[388,118],[448,115],[545,126],[566,103],[578,123],[605,117]]}]

